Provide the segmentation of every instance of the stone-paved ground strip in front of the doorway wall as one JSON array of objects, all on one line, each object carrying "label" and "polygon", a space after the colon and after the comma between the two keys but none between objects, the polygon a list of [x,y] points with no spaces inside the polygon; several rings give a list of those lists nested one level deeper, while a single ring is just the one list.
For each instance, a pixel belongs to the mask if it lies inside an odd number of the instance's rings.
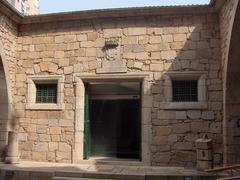
[{"label": "stone-paved ground strip in front of the doorway wall", "polygon": [[[155,167],[143,166],[138,163],[128,162],[116,164],[97,164],[85,162],[84,164],[63,164],[22,161],[19,164],[0,164],[1,172],[11,176],[11,173],[18,176],[49,176],[49,177],[94,177],[122,179],[122,176],[131,176],[135,179],[145,179],[146,176],[206,176],[209,174],[199,172],[195,169],[183,167]],[[131,178],[130,178],[131,179]],[[134,178],[132,178],[134,179]]]}]

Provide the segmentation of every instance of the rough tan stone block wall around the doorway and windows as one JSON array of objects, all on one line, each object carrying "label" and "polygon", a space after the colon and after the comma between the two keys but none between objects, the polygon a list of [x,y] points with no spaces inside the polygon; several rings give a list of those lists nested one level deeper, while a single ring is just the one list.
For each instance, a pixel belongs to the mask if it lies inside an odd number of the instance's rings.
[{"label": "rough tan stone block wall around the doorway and windows", "polygon": [[[227,3],[223,7],[228,7]],[[156,15],[134,14],[137,9],[122,11],[125,16],[115,16],[114,10],[109,10],[105,17],[92,17],[89,12],[90,18],[78,19],[70,13],[49,15],[47,21],[41,16],[29,17],[25,23],[16,23],[1,13],[0,36],[9,69],[5,73],[11,82],[21,160],[73,162],[77,141],[74,77],[86,73],[101,76],[96,72],[105,58],[105,42],[117,39],[124,74],[147,74],[144,116],[149,119],[149,131],[142,133],[149,134],[150,164],[195,166],[195,140],[207,135],[213,141],[214,164],[221,165],[224,42],[220,27],[228,26],[223,23],[224,15],[219,16],[210,6],[160,8]],[[166,108],[164,76],[172,78],[172,74],[183,78],[203,75],[204,106]],[[38,75],[63,77],[62,109],[26,108],[28,78]],[[5,139],[1,138],[3,144]]]}]

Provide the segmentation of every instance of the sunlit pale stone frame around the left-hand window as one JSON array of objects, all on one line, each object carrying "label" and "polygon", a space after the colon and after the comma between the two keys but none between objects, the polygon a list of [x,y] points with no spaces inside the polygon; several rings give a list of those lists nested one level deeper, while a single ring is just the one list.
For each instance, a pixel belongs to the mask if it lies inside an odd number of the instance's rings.
[{"label": "sunlit pale stone frame around the left-hand window", "polygon": [[[57,103],[36,103],[36,83],[54,82],[57,84]],[[33,75],[27,77],[27,110],[63,110],[64,104],[63,75]]]}]

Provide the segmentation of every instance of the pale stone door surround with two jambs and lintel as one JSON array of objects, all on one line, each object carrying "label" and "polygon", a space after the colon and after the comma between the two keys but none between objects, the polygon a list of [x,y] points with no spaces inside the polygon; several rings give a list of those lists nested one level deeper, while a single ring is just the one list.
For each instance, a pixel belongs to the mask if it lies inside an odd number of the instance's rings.
[{"label": "pale stone door surround with two jambs and lintel", "polygon": [[151,106],[152,97],[149,95],[148,84],[149,74],[74,74],[75,82],[75,133],[73,146],[73,163],[80,163],[83,160],[83,131],[84,131],[84,95],[85,82],[106,82],[106,81],[139,81],[142,82],[142,105],[141,105],[141,162],[151,164]]}]

